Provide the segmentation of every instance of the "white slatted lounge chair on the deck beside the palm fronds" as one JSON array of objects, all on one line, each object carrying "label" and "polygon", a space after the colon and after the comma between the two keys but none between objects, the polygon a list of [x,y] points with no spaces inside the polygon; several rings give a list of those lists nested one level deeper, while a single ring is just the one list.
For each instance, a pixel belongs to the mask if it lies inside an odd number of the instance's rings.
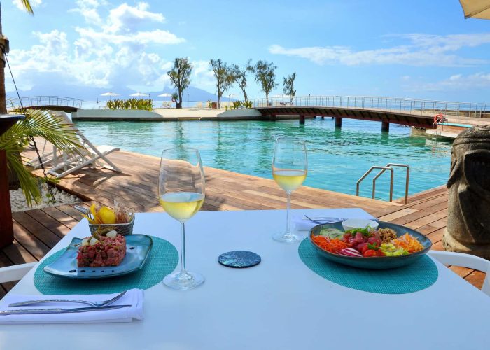
[{"label": "white slatted lounge chair on the deck beside the palm fronds", "polygon": [[[43,155],[41,155],[43,165],[50,165],[52,163],[52,169],[48,171],[48,174],[56,176],[57,178],[62,178],[83,167],[94,167],[95,165],[113,170],[114,172],[122,172],[121,169],[107,158],[107,155],[114,151],[119,151],[120,148],[107,145],[94,146],[94,144],[85,137],[83,132],[80,132],[80,130],[71,123],[71,120],[66,116],[66,113],[62,111],[50,111],[49,114],[53,117],[56,116],[62,118],[62,123],[70,125],[73,131],[76,132],[78,141],[83,148],[73,148],[71,151],[63,152],[61,154],[62,160],[60,162],[57,148],[54,146],[52,147],[52,152],[43,153]],[[45,150],[45,147],[46,144],[43,146],[43,150]],[[41,166],[36,160],[27,164],[34,166],[35,168]]]}]

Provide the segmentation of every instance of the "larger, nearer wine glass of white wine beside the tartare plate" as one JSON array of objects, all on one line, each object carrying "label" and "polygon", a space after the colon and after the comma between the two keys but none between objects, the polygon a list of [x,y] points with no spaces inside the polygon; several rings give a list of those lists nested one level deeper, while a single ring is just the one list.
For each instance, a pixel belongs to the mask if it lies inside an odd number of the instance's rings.
[{"label": "larger, nearer wine glass of white wine beside the tartare plate", "polygon": [[186,226],[204,203],[204,170],[196,149],[165,150],[160,160],[158,196],[163,209],[181,223],[181,270],[165,276],[163,283],[176,289],[190,289],[204,282],[204,276],[186,270]]}]

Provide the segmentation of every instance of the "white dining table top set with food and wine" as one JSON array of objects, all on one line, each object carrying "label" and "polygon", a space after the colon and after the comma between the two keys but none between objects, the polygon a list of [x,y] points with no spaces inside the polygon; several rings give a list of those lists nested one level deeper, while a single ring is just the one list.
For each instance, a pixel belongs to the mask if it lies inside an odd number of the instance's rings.
[{"label": "white dining table top set with food and wine", "polygon": [[[361,209],[293,214],[369,217]],[[415,293],[339,286],[304,265],[298,244],[272,240],[285,218],[283,210],[199,212],[186,224],[186,243],[187,267],[204,275],[202,286],[149,288],[142,321],[0,325],[0,349],[490,349],[490,297],[444,265],[435,262],[437,281]],[[88,232],[83,219],[48,255]],[[134,233],[180,245],[179,223],[165,213],[137,214]],[[262,262],[246,269],[218,263],[235,250],[258,253]],[[10,293],[40,294],[33,276],[34,269]]]}]

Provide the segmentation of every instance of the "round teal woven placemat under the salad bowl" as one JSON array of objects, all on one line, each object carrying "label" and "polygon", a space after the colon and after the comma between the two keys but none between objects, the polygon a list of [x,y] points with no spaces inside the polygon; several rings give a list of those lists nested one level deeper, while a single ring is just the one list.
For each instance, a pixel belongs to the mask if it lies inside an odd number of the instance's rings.
[{"label": "round teal woven placemat under the salad bowl", "polygon": [[365,292],[413,293],[432,286],[438,276],[437,266],[428,256],[397,269],[358,269],[321,257],[308,239],[301,242],[297,251],[304,265],[319,276],[341,286]]}]

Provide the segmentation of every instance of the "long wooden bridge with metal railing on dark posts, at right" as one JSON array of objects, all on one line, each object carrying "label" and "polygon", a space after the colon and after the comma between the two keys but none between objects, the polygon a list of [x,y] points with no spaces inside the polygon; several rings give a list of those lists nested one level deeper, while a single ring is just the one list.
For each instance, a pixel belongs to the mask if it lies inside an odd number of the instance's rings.
[{"label": "long wooden bridge with metal railing on dark posts, at right", "polygon": [[451,118],[490,118],[490,104],[469,102],[444,102],[422,99],[362,96],[288,96],[255,99],[253,109],[262,116],[334,117],[335,126],[342,126],[342,118],[381,122],[381,130],[388,130],[390,123],[413,127],[432,128],[434,116],[442,114]]}]

